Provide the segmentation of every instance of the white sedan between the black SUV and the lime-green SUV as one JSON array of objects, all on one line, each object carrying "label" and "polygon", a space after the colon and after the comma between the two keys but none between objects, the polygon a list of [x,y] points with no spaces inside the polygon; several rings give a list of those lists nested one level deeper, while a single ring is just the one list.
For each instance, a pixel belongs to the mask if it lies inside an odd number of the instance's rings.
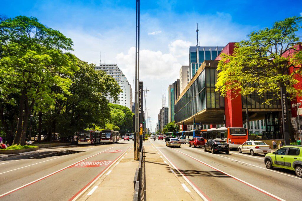
[{"label": "white sedan between the black SUV and the lime-green SUV", "polygon": [[238,152],[255,154],[267,154],[271,152],[271,146],[265,144],[262,141],[246,141],[242,145],[239,145]]}]

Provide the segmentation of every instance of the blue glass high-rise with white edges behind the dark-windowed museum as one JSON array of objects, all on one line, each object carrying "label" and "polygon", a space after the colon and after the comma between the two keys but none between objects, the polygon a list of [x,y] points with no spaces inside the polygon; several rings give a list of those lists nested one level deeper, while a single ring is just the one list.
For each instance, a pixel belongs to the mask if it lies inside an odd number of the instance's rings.
[{"label": "blue glass high-rise with white edges behind the dark-windowed museum", "polygon": [[221,46],[191,46],[189,48],[189,80],[195,75],[202,62],[205,60],[215,60],[223,48]]}]

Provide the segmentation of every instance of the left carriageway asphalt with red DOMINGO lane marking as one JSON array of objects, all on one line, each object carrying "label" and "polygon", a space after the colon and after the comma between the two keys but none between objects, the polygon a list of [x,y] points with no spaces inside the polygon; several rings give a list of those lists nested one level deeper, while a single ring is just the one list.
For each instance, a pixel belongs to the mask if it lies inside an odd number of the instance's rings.
[{"label": "left carriageway asphalt with red DOMINGO lane marking", "polygon": [[72,200],[133,141],[41,149],[0,160],[0,200]]}]

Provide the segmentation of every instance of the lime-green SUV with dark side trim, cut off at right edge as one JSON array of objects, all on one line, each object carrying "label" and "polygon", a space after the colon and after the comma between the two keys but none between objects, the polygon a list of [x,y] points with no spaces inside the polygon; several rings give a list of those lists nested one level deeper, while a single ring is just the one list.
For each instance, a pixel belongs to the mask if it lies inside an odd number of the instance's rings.
[{"label": "lime-green SUV with dark side trim, cut off at right edge", "polygon": [[302,146],[282,146],[275,152],[266,154],[264,163],[268,169],[278,167],[294,170],[298,177],[302,177]]}]

